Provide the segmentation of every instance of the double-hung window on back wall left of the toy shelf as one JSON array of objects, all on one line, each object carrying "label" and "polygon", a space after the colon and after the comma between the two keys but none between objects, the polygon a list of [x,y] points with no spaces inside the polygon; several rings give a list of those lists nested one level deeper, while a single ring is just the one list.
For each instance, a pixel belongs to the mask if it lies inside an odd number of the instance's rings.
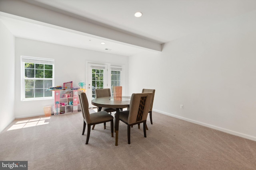
[{"label": "double-hung window on back wall left of the toy shelf", "polygon": [[21,100],[52,99],[54,59],[21,56]]}]

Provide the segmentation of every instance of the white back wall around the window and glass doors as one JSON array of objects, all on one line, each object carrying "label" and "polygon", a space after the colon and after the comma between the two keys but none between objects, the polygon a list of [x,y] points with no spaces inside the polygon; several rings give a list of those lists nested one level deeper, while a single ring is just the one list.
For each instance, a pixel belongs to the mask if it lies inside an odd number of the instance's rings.
[{"label": "white back wall around the window and glass doors", "polygon": [[16,118],[44,115],[43,107],[54,104],[54,100],[20,100],[20,56],[55,59],[55,86],[63,86],[64,82],[70,81],[73,81],[73,86],[78,86],[81,80],[85,82],[86,61],[124,64],[128,68],[128,57],[125,56],[16,38],[14,110]]}]

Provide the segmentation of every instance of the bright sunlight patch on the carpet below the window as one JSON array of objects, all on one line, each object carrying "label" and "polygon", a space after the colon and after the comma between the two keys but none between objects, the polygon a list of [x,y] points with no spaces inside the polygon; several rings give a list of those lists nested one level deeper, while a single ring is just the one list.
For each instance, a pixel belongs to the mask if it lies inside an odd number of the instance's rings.
[{"label": "bright sunlight patch on the carpet below the window", "polygon": [[17,121],[15,125],[12,125],[7,131],[15,130],[15,129],[22,129],[25,127],[33,127],[38,125],[46,125],[49,122],[45,122],[46,119],[50,119],[51,117],[41,117],[36,119],[27,119],[22,121]]}]

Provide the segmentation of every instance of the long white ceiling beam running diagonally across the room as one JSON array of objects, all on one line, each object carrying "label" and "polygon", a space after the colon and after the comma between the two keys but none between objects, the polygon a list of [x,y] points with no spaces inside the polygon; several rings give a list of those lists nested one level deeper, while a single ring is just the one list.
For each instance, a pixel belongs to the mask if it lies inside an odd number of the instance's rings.
[{"label": "long white ceiling beam running diagonally across the room", "polygon": [[74,16],[62,14],[60,12],[49,10],[21,0],[0,0],[0,11],[23,18],[80,31],[94,38],[108,39],[109,41],[121,43],[123,45],[139,47],[149,51],[162,50],[161,44],[159,43],[110,29],[102,25],[97,25],[95,23],[82,20],[81,18],[75,18]]}]

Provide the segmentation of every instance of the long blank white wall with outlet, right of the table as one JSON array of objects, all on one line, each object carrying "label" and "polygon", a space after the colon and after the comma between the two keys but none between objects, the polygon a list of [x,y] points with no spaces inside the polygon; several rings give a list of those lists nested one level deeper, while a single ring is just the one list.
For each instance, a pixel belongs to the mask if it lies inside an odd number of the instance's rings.
[{"label": "long blank white wall with outlet, right of the table", "polygon": [[256,141],[255,18],[256,11],[166,43],[160,54],[130,57],[129,93],[154,88],[154,110]]}]

